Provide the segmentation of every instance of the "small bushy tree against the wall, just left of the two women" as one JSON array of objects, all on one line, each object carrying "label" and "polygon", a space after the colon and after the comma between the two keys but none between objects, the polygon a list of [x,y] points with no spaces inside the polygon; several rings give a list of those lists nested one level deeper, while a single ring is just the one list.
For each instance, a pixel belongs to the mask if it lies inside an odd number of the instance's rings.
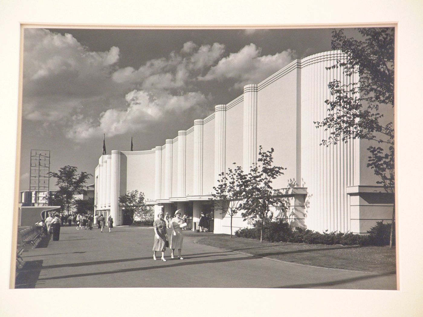
[{"label": "small bushy tree against the wall, just left of the two women", "polygon": [[151,213],[151,208],[145,203],[144,193],[137,189],[119,196],[119,205],[122,207],[124,218],[129,219],[131,224],[135,218],[142,218]]}]

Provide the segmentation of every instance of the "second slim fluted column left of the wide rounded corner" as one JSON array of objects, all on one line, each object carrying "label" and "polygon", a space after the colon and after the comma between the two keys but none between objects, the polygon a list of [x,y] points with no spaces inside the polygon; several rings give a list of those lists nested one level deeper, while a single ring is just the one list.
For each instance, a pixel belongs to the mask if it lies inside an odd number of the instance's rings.
[{"label": "second slim fluted column left of the wide rounded corner", "polygon": [[226,105],[214,107],[214,184],[226,169]]}]

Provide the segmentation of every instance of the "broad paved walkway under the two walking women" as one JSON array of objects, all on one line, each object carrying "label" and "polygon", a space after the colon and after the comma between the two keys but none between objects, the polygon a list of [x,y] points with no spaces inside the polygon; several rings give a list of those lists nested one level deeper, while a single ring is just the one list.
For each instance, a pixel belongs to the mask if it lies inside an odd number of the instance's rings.
[{"label": "broad paved walkway under the two walking women", "polygon": [[315,268],[194,242],[207,234],[186,231],[184,260],[170,259],[168,249],[162,262],[152,258],[152,228],[115,227],[109,233],[62,227],[59,241],[22,254],[25,271],[16,287],[396,289],[394,275]]}]

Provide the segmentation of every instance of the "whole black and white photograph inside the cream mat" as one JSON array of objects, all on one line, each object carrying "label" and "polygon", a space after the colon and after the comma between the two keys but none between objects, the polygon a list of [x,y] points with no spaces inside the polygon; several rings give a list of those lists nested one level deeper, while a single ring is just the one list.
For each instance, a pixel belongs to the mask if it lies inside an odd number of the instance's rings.
[{"label": "whole black and white photograph inside the cream mat", "polygon": [[394,47],[24,27],[15,287],[396,290]]}]

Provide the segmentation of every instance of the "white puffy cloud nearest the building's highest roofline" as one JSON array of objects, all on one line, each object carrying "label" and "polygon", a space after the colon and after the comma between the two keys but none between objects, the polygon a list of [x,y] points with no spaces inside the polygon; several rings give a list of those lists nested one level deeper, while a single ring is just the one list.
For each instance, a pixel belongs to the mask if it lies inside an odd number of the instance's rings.
[{"label": "white puffy cloud nearest the building's highest roofline", "polygon": [[234,79],[236,81],[234,87],[241,88],[247,84],[261,82],[296,57],[295,52],[290,49],[275,55],[260,55],[261,49],[255,44],[246,45],[239,52],[222,58],[206,75],[198,79],[202,81]]}]

